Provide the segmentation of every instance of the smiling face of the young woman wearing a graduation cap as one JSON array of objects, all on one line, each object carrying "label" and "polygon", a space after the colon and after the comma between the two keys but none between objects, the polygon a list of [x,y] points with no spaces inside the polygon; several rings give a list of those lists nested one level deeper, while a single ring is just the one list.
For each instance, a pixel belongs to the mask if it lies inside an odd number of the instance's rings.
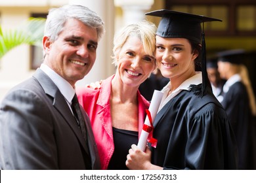
[{"label": "smiling face of the young woman wearing a graduation cap", "polygon": [[156,36],[156,61],[165,78],[182,81],[195,74],[194,59],[197,52],[187,39]]}]

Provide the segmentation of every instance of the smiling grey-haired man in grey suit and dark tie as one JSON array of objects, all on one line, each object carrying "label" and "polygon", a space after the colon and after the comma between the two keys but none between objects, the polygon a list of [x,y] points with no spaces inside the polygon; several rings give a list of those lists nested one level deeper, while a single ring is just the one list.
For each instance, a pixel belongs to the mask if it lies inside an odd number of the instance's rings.
[{"label": "smiling grey-haired man in grey suit and dark tie", "polygon": [[89,118],[84,110],[74,117],[72,98],[95,63],[103,25],[80,5],[49,11],[43,64],[1,104],[1,169],[100,169]]}]

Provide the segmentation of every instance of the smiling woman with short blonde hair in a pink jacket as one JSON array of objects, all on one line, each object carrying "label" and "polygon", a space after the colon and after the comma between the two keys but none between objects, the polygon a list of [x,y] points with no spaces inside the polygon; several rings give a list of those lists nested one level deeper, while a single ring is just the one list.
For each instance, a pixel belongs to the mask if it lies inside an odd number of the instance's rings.
[{"label": "smiling woman with short blonde hair in a pink jacket", "polygon": [[149,102],[139,86],[156,69],[156,25],[143,21],[123,27],[114,37],[116,74],[100,88],[77,90],[93,127],[102,169],[127,169],[126,156],[137,144]]}]

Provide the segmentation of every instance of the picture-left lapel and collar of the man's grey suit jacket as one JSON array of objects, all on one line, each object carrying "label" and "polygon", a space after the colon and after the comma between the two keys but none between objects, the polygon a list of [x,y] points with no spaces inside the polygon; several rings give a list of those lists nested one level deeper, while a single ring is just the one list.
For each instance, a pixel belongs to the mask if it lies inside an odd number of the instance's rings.
[{"label": "picture-left lapel and collar of the man's grey suit jacket", "polygon": [[33,76],[37,78],[43,90],[45,90],[45,93],[53,97],[53,107],[60,112],[65,121],[70,125],[70,128],[74,131],[83,148],[87,150],[83,135],[81,134],[80,129],[77,127],[77,122],[75,122],[75,118],[70,110],[70,107],[68,107],[66,99],[62,93],[60,93],[60,90],[58,90],[53,80],[51,80],[51,78],[49,78],[49,76],[47,76],[43,71],[41,71],[41,69],[37,69]]}]

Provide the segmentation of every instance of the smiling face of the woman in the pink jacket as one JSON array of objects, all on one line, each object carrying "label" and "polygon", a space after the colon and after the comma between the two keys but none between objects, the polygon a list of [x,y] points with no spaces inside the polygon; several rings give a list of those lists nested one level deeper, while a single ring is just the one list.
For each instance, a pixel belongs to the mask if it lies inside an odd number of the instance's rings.
[{"label": "smiling face of the woman in the pink jacket", "polygon": [[139,87],[156,69],[154,56],[144,51],[142,42],[136,36],[127,39],[116,59],[116,75],[123,84],[131,87]]}]

